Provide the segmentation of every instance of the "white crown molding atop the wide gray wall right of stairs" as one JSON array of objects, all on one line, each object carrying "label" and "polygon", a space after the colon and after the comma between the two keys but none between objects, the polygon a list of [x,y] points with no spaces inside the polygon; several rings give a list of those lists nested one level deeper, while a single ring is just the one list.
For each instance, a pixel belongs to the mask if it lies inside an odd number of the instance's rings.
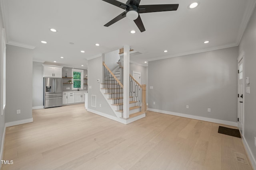
[{"label": "white crown molding atop the wide gray wall right of stairs", "polygon": [[221,45],[221,46],[218,46],[218,47],[212,47],[212,48],[208,48],[208,49],[200,49],[200,50],[196,50],[196,51],[189,51],[189,52],[186,52],[186,53],[178,53],[178,54],[175,54],[175,55],[168,55],[168,56],[164,56],[164,57],[157,57],[157,58],[149,59],[148,61],[156,61],[156,60],[162,60],[162,59],[169,59],[169,58],[172,58],[172,57],[180,57],[180,56],[184,56],[184,55],[203,53],[203,52],[214,51],[214,50],[219,50],[219,49],[226,49],[226,48],[237,47],[237,46],[238,46],[237,43],[230,43],[230,44]]}]

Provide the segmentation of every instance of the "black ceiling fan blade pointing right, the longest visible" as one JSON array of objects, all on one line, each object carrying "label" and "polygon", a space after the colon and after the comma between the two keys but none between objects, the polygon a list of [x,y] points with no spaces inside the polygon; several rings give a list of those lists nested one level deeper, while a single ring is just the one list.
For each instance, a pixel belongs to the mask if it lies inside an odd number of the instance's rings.
[{"label": "black ceiling fan blade pointing right, the longest visible", "polygon": [[140,5],[139,13],[176,11],[179,4]]}]

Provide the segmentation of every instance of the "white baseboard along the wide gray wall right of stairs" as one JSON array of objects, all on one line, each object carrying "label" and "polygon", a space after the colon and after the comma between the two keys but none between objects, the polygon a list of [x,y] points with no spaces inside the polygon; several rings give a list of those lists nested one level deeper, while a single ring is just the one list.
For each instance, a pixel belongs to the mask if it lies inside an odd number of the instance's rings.
[{"label": "white baseboard along the wide gray wall right of stairs", "polygon": [[164,113],[164,114],[168,114],[168,115],[186,117],[186,118],[190,118],[190,119],[197,119],[197,120],[202,120],[202,121],[209,121],[209,122],[212,122],[212,123],[219,123],[219,124],[223,124],[223,125],[238,127],[237,122],[233,122],[233,121],[212,119],[212,118],[208,118],[208,117],[188,115],[188,114],[184,114],[184,113],[176,113],[176,112],[172,112],[172,111],[165,111],[165,110],[158,110],[158,109],[151,109],[151,108],[148,108],[148,111],[154,111],[154,112]]}]

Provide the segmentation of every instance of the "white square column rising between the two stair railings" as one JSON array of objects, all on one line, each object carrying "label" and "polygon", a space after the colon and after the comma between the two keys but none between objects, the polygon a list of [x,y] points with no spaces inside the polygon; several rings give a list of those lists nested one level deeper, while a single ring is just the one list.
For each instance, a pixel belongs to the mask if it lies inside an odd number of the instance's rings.
[{"label": "white square column rising between the two stair railings", "polygon": [[129,118],[130,46],[124,45],[124,108],[123,117]]}]

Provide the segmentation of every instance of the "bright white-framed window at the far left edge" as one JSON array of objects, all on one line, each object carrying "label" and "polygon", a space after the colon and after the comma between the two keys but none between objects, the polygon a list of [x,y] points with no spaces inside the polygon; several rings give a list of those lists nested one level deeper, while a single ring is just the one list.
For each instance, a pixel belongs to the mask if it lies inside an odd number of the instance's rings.
[{"label": "bright white-framed window at the far left edge", "polygon": [[6,37],[5,37],[5,30],[2,29],[2,108],[1,108],[1,115],[4,114],[4,109],[6,106]]}]

